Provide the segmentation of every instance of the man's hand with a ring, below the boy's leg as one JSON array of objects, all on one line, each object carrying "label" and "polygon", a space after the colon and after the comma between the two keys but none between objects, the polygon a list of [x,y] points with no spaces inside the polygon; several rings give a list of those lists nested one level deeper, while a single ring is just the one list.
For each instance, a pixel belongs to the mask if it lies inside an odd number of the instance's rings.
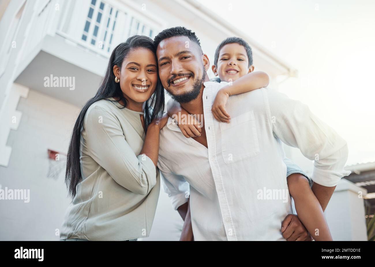
[{"label": "man's hand with a ring, below the boy's leg", "polygon": [[282,221],[281,233],[287,241],[312,241],[311,235],[294,214],[288,214]]}]

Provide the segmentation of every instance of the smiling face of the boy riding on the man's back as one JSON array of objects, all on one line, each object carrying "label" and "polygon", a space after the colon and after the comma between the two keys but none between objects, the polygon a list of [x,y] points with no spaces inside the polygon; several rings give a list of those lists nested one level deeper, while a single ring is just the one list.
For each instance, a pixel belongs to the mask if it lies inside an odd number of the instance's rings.
[{"label": "smiling face of the boy riding on the man's back", "polygon": [[219,75],[220,80],[229,83],[254,71],[254,66],[249,66],[245,47],[238,43],[228,43],[220,49],[217,66],[213,65],[212,71],[215,76]]}]

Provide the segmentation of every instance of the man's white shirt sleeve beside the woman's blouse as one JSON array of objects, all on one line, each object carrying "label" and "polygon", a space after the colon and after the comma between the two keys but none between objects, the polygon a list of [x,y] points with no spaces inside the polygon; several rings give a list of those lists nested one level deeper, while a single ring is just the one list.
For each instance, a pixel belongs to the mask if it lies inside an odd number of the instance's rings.
[{"label": "man's white shirt sleeve beside the woman's blouse", "polygon": [[181,175],[174,174],[169,168],[160,160],[157,162],[157,167],[163,180],[162,186],[164,192],[168,194],[171,199],[172,207],[177,210],[182,204],[187,202],[190,195],[190,185]]}]

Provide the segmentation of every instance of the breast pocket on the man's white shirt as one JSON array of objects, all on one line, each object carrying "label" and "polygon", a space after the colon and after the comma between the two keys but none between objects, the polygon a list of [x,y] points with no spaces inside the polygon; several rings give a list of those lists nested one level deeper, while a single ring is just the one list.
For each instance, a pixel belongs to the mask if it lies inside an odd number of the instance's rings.
[{"label": "breast pocket on the man's white shirt", "polygon": [[254,111],[220,123],[221,150],[226,164],[253,157],[260,152]]}]

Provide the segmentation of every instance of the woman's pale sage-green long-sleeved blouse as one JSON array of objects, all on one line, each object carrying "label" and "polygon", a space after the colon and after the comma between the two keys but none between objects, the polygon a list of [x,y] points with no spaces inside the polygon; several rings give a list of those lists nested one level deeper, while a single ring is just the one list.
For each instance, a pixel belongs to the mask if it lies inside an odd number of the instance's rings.
[{"label": "woman's pale sage-green long-sleeved blouse", "polygon": [[143,113],[116,106],[122,107],[101,100],[86,112],[81,129],[82,181],[66,210],[60,239],[128,240],[150,235],[159,170],[149,157],[139,155],[145,138],[139,116]]}]

